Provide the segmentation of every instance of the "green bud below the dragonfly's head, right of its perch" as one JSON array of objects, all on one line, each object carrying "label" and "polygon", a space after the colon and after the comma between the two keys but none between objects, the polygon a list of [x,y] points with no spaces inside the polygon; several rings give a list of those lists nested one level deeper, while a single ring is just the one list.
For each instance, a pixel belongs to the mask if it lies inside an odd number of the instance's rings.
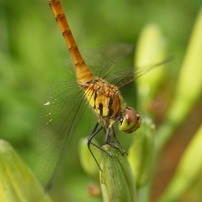
[{"label": "green bud below the dragonfly's head, right of its perch", "polygon": [[128,160],[138,188],[145,185],[152,176],[155,157],[154,129],[151,119],[144,118],[129,148]]}]

